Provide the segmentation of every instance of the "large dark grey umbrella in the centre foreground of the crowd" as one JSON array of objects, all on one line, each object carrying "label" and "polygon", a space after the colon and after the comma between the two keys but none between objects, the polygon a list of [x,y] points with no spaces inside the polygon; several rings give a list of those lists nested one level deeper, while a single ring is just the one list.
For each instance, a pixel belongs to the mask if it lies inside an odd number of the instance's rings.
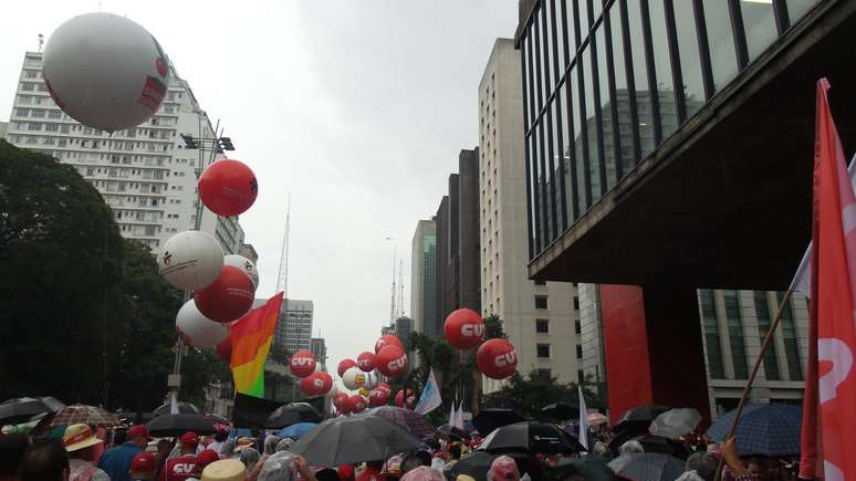
[{"label": "large dark grey umbrella in the centre foreground of the crowd", "polygon": [[311,466],[335,468],[362,461],[383,461],[411,451],[421,441],[393,421],[379,416],[327,419],[303,436],[290,451]]}]

